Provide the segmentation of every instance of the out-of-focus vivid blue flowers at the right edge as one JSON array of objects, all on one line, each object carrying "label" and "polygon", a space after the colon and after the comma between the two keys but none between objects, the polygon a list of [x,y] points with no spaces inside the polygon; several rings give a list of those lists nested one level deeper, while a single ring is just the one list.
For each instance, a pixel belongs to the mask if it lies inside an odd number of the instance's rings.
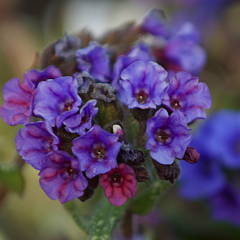
[{"label": "out-of-focus vivid blue flowers at the right edge", "polygon": [[200,126],[191,145],[200,151],[201,159],[195,165],[182,162],[182,196],[208,199],[216,219],[240,224],[240,113],[222,110],[213,114]]}]

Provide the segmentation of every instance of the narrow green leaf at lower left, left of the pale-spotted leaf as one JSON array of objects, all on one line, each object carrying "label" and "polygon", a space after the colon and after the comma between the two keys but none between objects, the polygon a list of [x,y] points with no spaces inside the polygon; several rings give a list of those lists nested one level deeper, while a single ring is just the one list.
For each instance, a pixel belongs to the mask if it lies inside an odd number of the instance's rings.
[{"label": "narrow green leaf at lower left, left of the pale-spotted leaf", "polygon": [[85,233],[88,233],[88,217],[82,214],[82,208],[80,207],[80,201],[70,201],[64,204],[64,207],[68,210],[68,212],[72,215],[74,221],[78,225],[80,229],[82,229]]}]

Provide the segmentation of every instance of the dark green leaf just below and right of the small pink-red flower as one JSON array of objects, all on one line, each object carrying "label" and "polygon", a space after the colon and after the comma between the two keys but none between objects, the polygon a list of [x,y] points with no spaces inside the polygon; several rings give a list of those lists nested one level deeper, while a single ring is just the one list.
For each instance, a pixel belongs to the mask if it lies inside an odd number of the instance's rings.
[{"label": "dark green leaf just below and right of the small pink-red flower", "polygon": [[[131,201],[131,211],[137,214],[147,214],[163,192],[171,186],[167,181],[156,180],[149,186],[142,186],[138,196]],[[145,190],[143,189],[146,188]]]}]

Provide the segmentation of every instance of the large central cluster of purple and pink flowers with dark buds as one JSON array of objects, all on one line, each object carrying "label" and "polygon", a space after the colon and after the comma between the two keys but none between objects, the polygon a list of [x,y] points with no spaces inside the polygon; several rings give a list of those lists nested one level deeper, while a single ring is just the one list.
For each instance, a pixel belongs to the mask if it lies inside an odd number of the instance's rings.
[{"label": "large central cluster of purple and pink flowers with dark buds", "polygon": [[[98,39],[65,35],[41,54],[41,71],[6,83],[0,116],[24,125],[17,151],[51,199],[85,201],[99,182],[120,206],[149,180],[145,159],[170,182],[179,175],[176,159],[197,161],[189,125],[206,117],[211,97],[192,74],[205,54],[192,25],[170,29],[158,13]],[[130,37],[119,39],[123,33]],[[149,34],[165,44],[145,42]]]}]

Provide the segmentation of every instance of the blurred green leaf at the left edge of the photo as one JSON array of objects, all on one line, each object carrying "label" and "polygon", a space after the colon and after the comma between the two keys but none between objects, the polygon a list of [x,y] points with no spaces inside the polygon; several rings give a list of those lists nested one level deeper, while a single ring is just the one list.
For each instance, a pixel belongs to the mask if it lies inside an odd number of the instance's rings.
[{"label": "blurred green leaf at the left edge of the photo", "polygon": [[21,169],[0,165],[0,184],[10,191],[21,194],[25,185]]}]

